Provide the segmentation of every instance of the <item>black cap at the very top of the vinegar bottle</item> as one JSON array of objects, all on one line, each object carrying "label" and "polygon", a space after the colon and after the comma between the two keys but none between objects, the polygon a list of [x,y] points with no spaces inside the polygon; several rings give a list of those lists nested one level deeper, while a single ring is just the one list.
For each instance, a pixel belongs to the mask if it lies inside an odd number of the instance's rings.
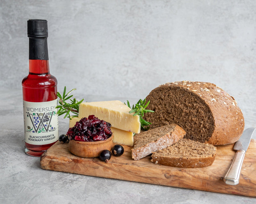
[{"label": "black cap at the very top of the vinegar bottle", "polygon": [[48,27],[47,20],[29,19],[28,20],[28,37],[47,38]]}]

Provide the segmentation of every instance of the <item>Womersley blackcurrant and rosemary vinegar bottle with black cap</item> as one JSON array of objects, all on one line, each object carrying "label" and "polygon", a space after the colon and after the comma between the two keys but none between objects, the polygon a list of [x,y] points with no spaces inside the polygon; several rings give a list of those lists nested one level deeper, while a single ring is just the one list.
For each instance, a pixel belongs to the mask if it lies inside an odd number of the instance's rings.
[{"label": "Womersley blackcurrant and rosemary vinegar bottle with black cap", "polygon": [[29,74],[22,80],[25,152],[40,157],[58,141],[57,79],[50,74],[47,21],[28,20]]}]

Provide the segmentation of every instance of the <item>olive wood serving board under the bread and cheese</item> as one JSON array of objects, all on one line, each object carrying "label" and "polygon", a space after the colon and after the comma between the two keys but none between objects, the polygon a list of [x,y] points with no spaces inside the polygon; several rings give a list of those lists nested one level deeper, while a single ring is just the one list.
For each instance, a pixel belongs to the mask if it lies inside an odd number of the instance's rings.
[{"label": "olive wood serving board under the bread and cheese", "polygon": [[231,186],[223,181],[236,154],[233,146],[234,144],[216,146],[217,155],[211,166],[192,169],[154,164],[150,162],[150,156],[134,161],[131,156],[132,147],[125,145],[121,157],[112,156],[106,163],[99,158],[77,157],[69,152],[67,143],[56,142],[41,156],[40,164],[42,169],[53,171],[256,197],[254,139],[246,151],[239,184]]}]

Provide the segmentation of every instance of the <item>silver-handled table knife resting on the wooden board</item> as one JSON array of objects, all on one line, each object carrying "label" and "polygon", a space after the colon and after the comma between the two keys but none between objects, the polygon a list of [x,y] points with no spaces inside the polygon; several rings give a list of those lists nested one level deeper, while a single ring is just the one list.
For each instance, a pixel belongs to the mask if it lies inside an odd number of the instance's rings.
[{"label": "silver-handled table knife resting on the wooden board", "polygon": [[224,182],[228,185],[237,185],[239,183],[239,176],[244,161],[244,155],[249,147],[254,130],[255,128],[247,128],[244,130],[243,135],[234,145],[233,149],[236,150],[236,155],[226,176],[223,178]]}]

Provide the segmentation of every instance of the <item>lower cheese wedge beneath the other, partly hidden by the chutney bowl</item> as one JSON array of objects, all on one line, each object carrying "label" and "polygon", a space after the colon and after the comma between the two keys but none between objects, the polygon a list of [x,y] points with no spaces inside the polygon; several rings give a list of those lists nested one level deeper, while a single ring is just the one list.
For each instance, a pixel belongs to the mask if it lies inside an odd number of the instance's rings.
[{"label": "lower cheese wedge beneath the other, partly hidden by the chutney bowl", "polygon": [[[69,120],[69,128],[74,127],[76,122],[79,120],[80,120],[80,118],[77,118],[77,117]],[[120,130],[120,129],[113,128],[113,127],[111,127],[110,129],[113,133],[113,142],[114,143],[123,144],[123,145],[127,145],[127,146],[133,146],[133,133],[132,132]]]}]

